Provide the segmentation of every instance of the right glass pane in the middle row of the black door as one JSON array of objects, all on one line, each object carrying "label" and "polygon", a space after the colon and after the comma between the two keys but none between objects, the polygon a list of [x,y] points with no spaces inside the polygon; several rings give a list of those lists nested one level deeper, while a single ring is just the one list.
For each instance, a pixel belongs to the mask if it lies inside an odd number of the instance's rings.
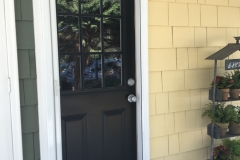
[{"label": "right glass pane in the middle row of the black door", "polygon": [[105,52],[121,51],[121,21],[119,18],[103,18]]}]

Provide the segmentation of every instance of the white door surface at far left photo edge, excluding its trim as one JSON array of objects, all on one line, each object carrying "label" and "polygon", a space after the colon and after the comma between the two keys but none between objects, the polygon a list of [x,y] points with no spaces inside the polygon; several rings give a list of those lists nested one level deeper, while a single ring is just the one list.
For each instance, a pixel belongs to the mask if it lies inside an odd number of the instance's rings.
[{"label": "white door surface at far left photo edge, excluding its trim", "polygon": [[13,141],[12,141],[12,128],[11,128],[11,106],[10,106],[10,93],[8,82],[8,58],[7,58],[7,43],[6,43],[6,21],[4,13],[4,1],[0,0],[0,19],[3,24],[0,25],[0,157],[2,159],[13,160]]}]

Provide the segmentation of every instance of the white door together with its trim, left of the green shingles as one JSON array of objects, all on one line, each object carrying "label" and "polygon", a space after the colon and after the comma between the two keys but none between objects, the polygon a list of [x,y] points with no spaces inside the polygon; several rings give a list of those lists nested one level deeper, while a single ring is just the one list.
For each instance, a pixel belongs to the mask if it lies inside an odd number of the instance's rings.
[{"label": "white door together with its trim, left of the green shingles", "polygon": [[22,160],[14,0],[0,0],[0,157]]}]

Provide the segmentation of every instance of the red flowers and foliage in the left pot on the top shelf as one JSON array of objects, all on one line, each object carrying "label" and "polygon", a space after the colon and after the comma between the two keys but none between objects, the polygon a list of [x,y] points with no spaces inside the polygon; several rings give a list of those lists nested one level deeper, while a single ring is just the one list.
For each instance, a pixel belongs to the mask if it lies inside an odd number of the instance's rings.
[{"label": "red flowers and foliage in the left pot on the top shelf", "polygon": [[[214,84],[214,79],[212,80],[212,86]],[[216,76],[216,87],[219,89],[230,88],[234,84],[234,80],[230,78],[229,75]]]}]

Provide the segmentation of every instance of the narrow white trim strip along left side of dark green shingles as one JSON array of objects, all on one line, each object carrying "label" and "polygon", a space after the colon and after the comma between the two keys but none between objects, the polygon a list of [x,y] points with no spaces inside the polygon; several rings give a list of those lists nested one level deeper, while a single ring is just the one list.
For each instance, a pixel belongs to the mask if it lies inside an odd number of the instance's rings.
[{"label": "narrow white trim strip along left side of dark green shingles", "polygon": [[22,129],[18,77],[18,56],[14,0],[3,0],[6,17],[6,43],[10,83],[11,127],[14,160],[22,160]]}]

